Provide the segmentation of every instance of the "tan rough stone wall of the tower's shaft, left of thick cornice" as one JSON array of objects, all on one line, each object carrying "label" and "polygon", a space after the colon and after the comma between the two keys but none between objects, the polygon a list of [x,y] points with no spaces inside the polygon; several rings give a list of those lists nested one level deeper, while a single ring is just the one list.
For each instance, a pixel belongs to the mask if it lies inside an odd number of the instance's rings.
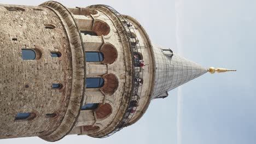
[{"label": "tan rough stone wall of the tower's shaft, left of thick cornice", "polygon": [[[21,9],[11,10],[16,7]],[[0,19],[0,139],[46,135],[59,127],[71,94],[71,52],[65,29],[54,11],[45,7],[0,5]],[[45,29],[49,24],[55,28]],[[22,60],[21,49],[30,48],[37,48],[42,57]],[[62,56],[51,57],[53,51]],[[63,88],[52,89],[52,83]],[[19,112],[34,112],[36,118],[15,121]],[[46,113],[57,116],[48,118]]]}]

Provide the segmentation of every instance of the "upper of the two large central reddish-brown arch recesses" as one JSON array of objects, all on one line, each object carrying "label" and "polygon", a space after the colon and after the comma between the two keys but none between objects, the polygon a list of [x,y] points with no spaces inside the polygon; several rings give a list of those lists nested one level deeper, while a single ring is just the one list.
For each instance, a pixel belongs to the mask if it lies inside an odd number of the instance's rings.
[{"label": "upper of the two large central reddish-brown arch recesses", "polygon": [[104,60],[102,61],[102,63],[104,64],[112,64],[118,58],[118,51],[112,44],[103,44],[100,52],[103,53]]}]

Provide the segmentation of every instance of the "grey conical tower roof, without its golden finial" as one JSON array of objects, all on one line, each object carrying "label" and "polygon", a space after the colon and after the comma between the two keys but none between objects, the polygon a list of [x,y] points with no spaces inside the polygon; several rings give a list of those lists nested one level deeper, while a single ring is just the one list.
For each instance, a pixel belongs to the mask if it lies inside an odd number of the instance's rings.
[{"label": "grey conical tower roof, without its golden finial", "polygon": [[[173,55],[171,55],[173,54]],[[167,96],[167,92],[205,73],[207,69],[170,50],[154,45],[155,85],[152,99]]]}]

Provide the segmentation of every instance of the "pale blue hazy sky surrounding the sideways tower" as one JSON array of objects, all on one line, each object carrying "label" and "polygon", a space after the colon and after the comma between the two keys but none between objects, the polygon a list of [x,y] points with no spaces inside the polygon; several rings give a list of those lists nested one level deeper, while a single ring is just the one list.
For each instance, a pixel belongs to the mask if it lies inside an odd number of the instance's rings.
[{"label": "pale blue hazy sky surrounding the sideways tower", "polygon": [[[42,2],[0,0],[23,5]],[[110,5],[141,22],[154,43],[204,67],[237,72],[205,74],[182,86],[179,96],[174,89],[168,98],[153,100],[136,124],[106,139],[66,136],[56,143],[256,143],[255,0],[59,2],[67,7]],[[177,104],[181,108],[179,140]],[[1,144],[18,142],[47,143],[38,137],[0,140]]]}]

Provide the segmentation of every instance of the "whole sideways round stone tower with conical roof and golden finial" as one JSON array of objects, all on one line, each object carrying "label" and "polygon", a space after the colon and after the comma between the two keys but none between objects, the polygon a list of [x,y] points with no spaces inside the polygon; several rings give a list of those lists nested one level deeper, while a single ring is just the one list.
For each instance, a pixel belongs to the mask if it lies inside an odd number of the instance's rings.
[{"label": "whole sideways round stone tower with conical roof and golden finial", "polygon": [[206,69],[107,5],[0,5],[0,139],[107,137]]}]

